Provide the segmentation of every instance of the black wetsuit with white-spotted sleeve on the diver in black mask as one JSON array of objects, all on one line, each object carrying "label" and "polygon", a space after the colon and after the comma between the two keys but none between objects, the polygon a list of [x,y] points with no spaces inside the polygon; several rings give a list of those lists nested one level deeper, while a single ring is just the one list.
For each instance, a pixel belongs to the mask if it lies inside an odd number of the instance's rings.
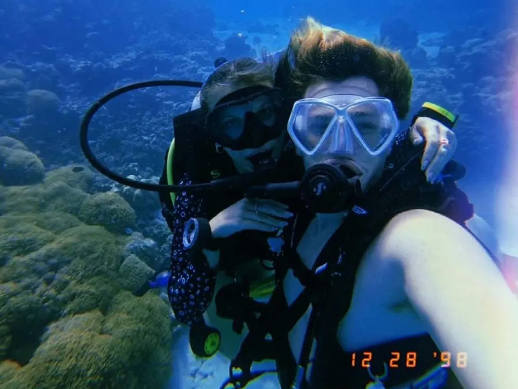
[{"label": "black wetsuit with white-spotted sleeve on the diver in black mask", "polygon": [[[175,152],[172,167],[174,183],[177,185],[207,183],[215,178],[238,174],[226,153],[217,152],[214,143],[200,138],[203,125],[199,122],[199,114],[196,111],[175,118]],[[290,145],[287,145],[278,165],[281,168],[285,166],[286,169],[277,169],[269,174],[268,181],[296,180],[304,171],[302,160],[295,155]],[[167,183],[166,164],[160,183]],[[186,221],[191,217],[210,220],[242,198],[242,192],[239,191],[184,191],[176,194],[173,205],[168,193],[160,193],[162,214],[173,234],[168,296],[172,310],[180,323],[192,325],[203,319],[203,313],[214,297],[218,270],[232,271],[235,261],[243,263],[247,260],[277,256],[270,250],[267,242],[270,235],[258,231],[241,231],[222,240],[217,269],[209,267],[203,253],[194,253],[183,247],[182,237]]]}]

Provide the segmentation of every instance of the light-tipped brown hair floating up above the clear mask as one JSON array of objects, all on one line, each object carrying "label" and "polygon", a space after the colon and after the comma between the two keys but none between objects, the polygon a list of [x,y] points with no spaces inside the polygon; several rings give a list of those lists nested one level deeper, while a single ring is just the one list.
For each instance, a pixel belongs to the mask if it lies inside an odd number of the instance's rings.
[{"label": "light-tipped brown hair floating up above the clear mask", "polygon": [[407,116],[412,75],[401,54],[322,25],[313,18],[307,18],[292,34],[277,68],[276,86],[295,101],[316,82],[353,76],[374,80],[381,96],[394,104],[398,118]]}]

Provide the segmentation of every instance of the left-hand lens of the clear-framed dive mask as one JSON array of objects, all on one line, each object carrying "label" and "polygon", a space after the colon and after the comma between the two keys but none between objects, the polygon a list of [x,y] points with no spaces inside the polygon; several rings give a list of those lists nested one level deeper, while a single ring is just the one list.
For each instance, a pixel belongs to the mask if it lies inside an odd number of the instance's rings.
[{"label": "left-hand lens of the clear-framed dive mask", "polygon": [[293,134],[309,152],[322,140],[329,124],[335,118],[335,110],[321,104],[301,104],[293,123]]}]

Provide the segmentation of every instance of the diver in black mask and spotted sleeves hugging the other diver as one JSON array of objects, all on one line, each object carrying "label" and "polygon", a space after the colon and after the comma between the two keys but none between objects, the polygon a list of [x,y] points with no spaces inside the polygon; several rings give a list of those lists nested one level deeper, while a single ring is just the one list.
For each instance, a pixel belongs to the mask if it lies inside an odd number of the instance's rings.
[{"label": "diver in black mask and spotted sleeves hugging the other diver", "polygon": [[[275,79],[276,70],[277,63],[270,59],[257,62],[242,58],[220,63],[205,81],[191,112],[174,118],[174,157],[168,165],[169,152],[166,154],[161,183],[191,185],[263,168],[268,172],[264,177],[267,182],[299,179],[304,173],[302,160],[295,155],[285,132],[291,105],[285,91],[275,86],[281,83]],[[419,118],[411,131],[399,135],[392,162],[406,161],[418,151],[421,155],[412,141],[423,138],[427,144],[422,158],[423,175],[433,181],[456,145],[455,134],[434,118]],[[448,145],[439,145],[440,139],[448,140]],[[170,165],[174,174],[168,181]],[[273,174],[268,170],[271,165],[277,168]],[[221,309],[218,314],[217,305],[211,305],[213,296],[236,277],[249,289],[243,292],[248,296],[270,296],[275,286],[274,269],[261,263],[282,256],[275,249],[282,241],[279,231],[292,218],[289,208],[296,205],[289,198],[243,198],[240,191],[162,192],[160,198],[174,237],[168,293],[175,316],[191,326],[195,354],[209,356],[217,351],[212,342],[214,348],[207,352],[205,343],[213,339],[211,334],[223,330],[226,342],[220,351],[232,357],[244,337],[240,334],[242,321],[237,331],[232,330],[228,318],[234,314],[222,314]],[[198,218],[205,228],[210,228],[212,239],[203,249],[184,247],[184,226],[191,218]],[[224,292],[220,301],[238,290]],[[203,318],[207,309],[212,327],[207,327]]]}]

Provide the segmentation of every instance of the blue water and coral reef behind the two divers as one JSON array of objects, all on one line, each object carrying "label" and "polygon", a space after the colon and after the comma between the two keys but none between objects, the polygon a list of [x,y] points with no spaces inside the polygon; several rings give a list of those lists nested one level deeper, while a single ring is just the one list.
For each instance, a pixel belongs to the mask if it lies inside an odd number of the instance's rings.
[{"label": "blue water and coral reef behind the two divers", "polygon": [[[430,101],[461,115],[459,186],[518,256],[517,12],[507,0],[0,0],[0,389],[217,388],[228,377],[223,356],[192,355],[163,291],[137,296],[168,267],[170,231],[156,193],[90,168],[79,124],[123,85],[203,81],[218,57],[281,50],[306,16],[401,50],[411,112]],[[92,121],[93,151],[157,183],[171,118],[196,93],[110,101]]]}]

